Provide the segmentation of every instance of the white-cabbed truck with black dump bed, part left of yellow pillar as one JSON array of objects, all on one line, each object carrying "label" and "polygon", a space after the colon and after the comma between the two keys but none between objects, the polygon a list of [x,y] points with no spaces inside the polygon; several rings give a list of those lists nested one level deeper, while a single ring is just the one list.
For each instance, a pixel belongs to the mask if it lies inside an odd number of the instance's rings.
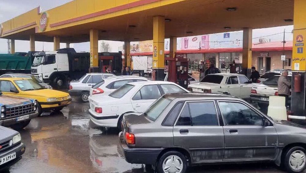
[{"label": "white-cabbed truck with black dump bed, part left of yellow pillar", "polygon": [[68,82],[82,77],[89,68],[89,53],[77,53],[73,48],[50,52],[35,52],[31,73],[52,87],[68,87]]}]

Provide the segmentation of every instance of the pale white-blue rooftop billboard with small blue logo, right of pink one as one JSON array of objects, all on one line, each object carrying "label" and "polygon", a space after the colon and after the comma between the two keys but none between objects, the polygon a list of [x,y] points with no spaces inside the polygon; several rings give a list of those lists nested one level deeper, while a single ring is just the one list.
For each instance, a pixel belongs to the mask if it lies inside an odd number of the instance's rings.
[{"label": "pale white-blue rooftop billboard with small blue logo, right of pink one", "polygon": [[210,48],[241,48],[243,32],[210,35]]}]

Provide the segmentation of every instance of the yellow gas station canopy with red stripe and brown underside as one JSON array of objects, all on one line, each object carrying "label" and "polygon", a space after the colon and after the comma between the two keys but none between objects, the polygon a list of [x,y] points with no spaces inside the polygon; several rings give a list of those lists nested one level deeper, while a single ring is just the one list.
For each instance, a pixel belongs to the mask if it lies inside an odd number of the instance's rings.
[{"label": "yellow gas station canopy with red stripe and brown underside", "polygon": [[46,20],[38,7],[6,21],[0,37],[79,43],[98,29],[99,40],[152,40],[154,16],[165,17],[165,38],[184,37],[293,25],[293,6],[294,0],[75,0],[47,10]]}]

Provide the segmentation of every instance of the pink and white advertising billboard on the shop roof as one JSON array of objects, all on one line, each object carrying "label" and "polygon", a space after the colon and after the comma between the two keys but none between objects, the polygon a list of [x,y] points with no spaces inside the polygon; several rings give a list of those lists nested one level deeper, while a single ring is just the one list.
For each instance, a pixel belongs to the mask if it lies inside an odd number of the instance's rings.
[{"label": "pink and white advertising billboard on the shop roof", "polygon": [[209,35],[181,38],[181,50],[199,49],[199,48],[203,49],[209,48]]}]

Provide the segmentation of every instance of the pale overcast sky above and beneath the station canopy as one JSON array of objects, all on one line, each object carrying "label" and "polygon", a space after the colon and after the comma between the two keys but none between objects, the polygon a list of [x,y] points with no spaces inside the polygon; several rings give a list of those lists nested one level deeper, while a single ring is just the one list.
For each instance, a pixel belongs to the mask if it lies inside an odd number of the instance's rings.
[{"label": "pale overcast sky above and beneath the station canopy", "polygon": [[[25,13],[29,10],[40,6],[43,11],[49,10],[51,8],[60,6],[72,0],[0,0],[0,23],[12,19],[22,13]],[[263,37],[275,33],[281,33],[286,29],[286,40],[292,40],[293,34],[291,31],[293,29],[293,25],[290,26],[282,26],[275,28],[266,28],[266,29],[254,29],[253,30],[253,38],[255,37]],[[203,33],[204,34],[204,33]],[[283,35],[278,34],[275,36],[268,37],[271,41],[281,41],[283,40]],[[101,42],[101,41],[99,41]],[[254,39],[253,42],[258,42],[258,39]],[[118,41],[109,41],[113,52],[118,51],[118,47],[122,46],[122,42]],[[15,51],[16,52],[28,52],[30,43],[29,41],[15,40]],[[35,42],[35,50],[36,51],[52,51],[53,43],[50,42]],[[64,48],[66,44],[61,44],[61,48]],[[80,44],[71,44],[70,47],[76,48],[76,51],[89,51],[89,43],[80,43]],[[7,52],[7,40],[0,39],[0,53]]]}]

